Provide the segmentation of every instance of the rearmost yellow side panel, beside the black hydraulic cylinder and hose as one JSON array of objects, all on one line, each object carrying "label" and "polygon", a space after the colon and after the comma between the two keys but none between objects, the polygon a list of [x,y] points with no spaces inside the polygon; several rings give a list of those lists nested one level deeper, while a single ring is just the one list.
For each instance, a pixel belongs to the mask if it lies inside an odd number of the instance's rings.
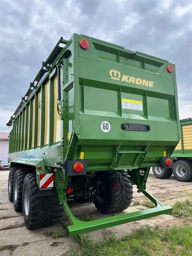
[{"label": "rearmost yellow side panel, beside the black hydraulic cylinder and hose", "polygon": [[[59,106],[60,108],[60,106]],[[53,142],[61,141],[61,116],[57,112],[57,74],[54,77],[54,128]]]}]

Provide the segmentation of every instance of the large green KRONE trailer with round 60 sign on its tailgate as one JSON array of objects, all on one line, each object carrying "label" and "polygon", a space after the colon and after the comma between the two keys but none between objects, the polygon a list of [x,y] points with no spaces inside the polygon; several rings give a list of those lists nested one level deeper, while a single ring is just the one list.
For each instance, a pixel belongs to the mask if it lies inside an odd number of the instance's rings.
[{"label": "large green KRONE trailer with round 60 sign on its tailgate", "polygon": [[[27,228],[71,223],[69,237],[172,211],[150,195],[151,166],[180,140],[175,65],[102,40],[59,39],[7,123],[9,199]],[[156,208],[83,222],[68,202],[127,209],[133,186]]]}]

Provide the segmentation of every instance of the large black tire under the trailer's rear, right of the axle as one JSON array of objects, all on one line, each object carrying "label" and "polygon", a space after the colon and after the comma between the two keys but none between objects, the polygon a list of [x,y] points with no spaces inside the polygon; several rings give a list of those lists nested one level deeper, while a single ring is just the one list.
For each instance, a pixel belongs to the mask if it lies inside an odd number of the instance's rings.
[{"label": "large black tire under the trailer's rear, right of the axle", "polygon": [[[99,212],[113,213],[127,209],[133,198],[131,181],[117,172],[98,172],[96,174],[96,190],[98,195],[93,197],[93,203]],[[114,187],[117,183],[118,187]],[[97,193],[97,192],[95,192]]]}]

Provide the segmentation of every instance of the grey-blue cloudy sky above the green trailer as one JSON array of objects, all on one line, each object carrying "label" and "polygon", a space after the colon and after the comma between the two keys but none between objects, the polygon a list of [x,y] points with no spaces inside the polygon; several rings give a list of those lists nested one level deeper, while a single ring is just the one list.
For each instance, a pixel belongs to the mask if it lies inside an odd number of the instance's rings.
[{"label": "grey-blue cloudy sky above the green trailer", "polygon": [[192,1],[0,0],[0,132],[58,39],[73,33],[175,63],[180,119],[192,117]]}]

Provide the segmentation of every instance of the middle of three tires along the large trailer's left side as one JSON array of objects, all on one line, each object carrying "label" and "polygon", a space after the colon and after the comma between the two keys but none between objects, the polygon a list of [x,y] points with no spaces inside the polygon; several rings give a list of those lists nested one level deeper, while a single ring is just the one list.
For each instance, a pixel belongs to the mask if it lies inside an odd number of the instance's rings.
[{"label": "middle of three tires along the large trailer's left side", "polygon": [[15,173],[13,185],[13,205],[16,211],[23,211],[23,183],[28,174],[26,169],[18,169]]}]

